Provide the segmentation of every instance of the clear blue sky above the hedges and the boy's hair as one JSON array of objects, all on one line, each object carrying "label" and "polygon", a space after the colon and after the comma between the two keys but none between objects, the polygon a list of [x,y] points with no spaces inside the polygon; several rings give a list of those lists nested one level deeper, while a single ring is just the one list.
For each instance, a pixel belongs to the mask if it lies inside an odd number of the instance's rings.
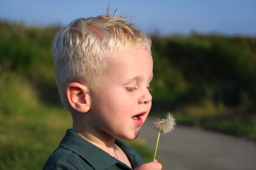
[{"label": "clear blue sky above the hedges and the boy's hair", "polygon": [[0,18],[34,25],[124,14],[148,33],[220,33],[256,36],[256,0],[0,0]]}]

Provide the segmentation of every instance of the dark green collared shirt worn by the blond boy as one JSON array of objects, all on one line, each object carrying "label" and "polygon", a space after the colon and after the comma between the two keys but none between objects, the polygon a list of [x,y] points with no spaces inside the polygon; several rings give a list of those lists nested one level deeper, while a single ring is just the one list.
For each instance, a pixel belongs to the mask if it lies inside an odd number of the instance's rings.
[{"label": "dark green collared shirt worn by the blond boy", "polygon": [[[135,168],[145,163],[134,148],[120,140],[115,141]],[[67,130],[60,146],[47,159],[43,169],[131,169],[72,130]]]}]

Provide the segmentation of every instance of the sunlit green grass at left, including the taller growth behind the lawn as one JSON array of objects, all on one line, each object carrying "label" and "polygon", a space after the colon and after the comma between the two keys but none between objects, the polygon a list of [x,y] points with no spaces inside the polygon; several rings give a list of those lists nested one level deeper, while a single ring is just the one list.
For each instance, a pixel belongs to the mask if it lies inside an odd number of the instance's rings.
[{"label": "sunlit green grass at left, including the taller growth behind the lawn", "polygon": [[71,116],[40,103],[20,75],[2,72],[0,83],[0,169],[41,169],[71,127]]}]

